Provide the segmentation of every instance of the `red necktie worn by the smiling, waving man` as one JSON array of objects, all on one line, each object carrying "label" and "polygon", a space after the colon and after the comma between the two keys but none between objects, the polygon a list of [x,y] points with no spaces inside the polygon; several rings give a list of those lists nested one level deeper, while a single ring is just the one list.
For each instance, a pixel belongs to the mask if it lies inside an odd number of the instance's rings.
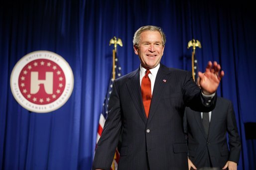
[{"label": "red necktie worn by the smiling, waving man", "polygon": [[150,71],[146,70],[146,74],[141,81],[141,94],[142,94],[142,101],[143,101],[146,117],[148,117],[149,107],[151,102],[151,82],[148,77],[149,73]]}]

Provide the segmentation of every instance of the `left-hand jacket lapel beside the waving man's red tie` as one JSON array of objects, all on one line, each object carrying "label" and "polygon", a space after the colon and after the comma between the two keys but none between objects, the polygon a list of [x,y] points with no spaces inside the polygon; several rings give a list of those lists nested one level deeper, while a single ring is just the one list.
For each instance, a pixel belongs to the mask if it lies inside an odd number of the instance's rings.
[{"label": "left-hand jacket lapel beside the waving man's red tie", "polygon": [[130,81],[127,82],[127,87],[140,118],[144,124],[146,124],[147,118],[142,104],[141,89],[139,84],[139,69],[137,69],[137,71],[130,76]]}]

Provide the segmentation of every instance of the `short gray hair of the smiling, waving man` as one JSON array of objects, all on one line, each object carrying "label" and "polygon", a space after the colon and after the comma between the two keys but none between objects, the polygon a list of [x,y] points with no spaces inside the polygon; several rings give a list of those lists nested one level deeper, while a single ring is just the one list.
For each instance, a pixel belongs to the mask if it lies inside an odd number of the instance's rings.
[{"label": "short gray hair of the smiling, waving man", "polygon": [[165,38],[165,34],[163,33],[163,30],[162,28],[160,27],[157,27],[157,26],[153,26],[153,25],[147,25],[147,26],[142,26],[140,27],[135,33],[134,33],[134,36],[133,36],[133,45],[135,46],[138,46],[138,42],[139,42],[139,36],[142,32],[144,31],[158,31],[160,34],[161,34],[161,37],[162,37],[162,44],[163,46],[165,45],[166,43],[166,38]]}]

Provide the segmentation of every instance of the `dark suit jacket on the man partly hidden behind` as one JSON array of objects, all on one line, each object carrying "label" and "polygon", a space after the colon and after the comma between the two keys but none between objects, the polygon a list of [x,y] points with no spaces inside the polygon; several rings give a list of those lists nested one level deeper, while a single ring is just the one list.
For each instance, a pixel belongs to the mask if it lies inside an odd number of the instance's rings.
[{"label": "dark suit jacket on the man partly hidden behind", "polygon": [[204,131],[201,113],[190,108],[185,109],[184,130],[188,135],[189,159],[197,169],[207,166],[204,164],[207,158],[210,159],[212,167],[221,169],[227,161],[238,163],[241,143],[233,104],[230,100],[217,98],[216,107],[211,115],[208,136]]}]

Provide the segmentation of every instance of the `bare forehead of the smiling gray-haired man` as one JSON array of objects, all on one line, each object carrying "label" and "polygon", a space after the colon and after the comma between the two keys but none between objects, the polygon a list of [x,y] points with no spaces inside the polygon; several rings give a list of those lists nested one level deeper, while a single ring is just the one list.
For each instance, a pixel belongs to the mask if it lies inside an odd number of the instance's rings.
[{"label": "bare forehead of the smiling gray-haired man", "polygon": [[143,31],[140,34],[140,42],[161,42],[161,34],[158,31]]}]

